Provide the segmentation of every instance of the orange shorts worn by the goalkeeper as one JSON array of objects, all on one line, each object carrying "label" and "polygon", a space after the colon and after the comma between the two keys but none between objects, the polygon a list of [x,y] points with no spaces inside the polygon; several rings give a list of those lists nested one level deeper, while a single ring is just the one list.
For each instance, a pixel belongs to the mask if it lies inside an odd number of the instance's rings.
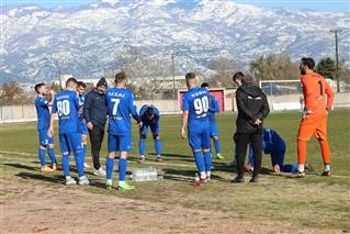
[{"label": "orange shorts worn by the goalkeeper", "polygon": [[318,140],[327,140],[327,115],[308,114],[306,119],[302,120],[297,140],[309,141],[313,134]]}]

